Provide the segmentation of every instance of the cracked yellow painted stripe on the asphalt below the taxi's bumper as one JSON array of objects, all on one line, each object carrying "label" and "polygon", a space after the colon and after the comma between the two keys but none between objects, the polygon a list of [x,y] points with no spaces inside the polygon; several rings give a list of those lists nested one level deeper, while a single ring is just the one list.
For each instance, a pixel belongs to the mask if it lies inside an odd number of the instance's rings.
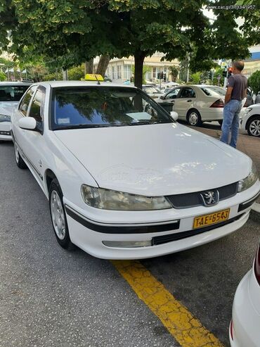
[{"label": "cracked yellow painted stripe on the asphalt below the taxi's bumper", "polygon": [[223,347],[138,261],[113,260],[118,272],[183,347]]}]

